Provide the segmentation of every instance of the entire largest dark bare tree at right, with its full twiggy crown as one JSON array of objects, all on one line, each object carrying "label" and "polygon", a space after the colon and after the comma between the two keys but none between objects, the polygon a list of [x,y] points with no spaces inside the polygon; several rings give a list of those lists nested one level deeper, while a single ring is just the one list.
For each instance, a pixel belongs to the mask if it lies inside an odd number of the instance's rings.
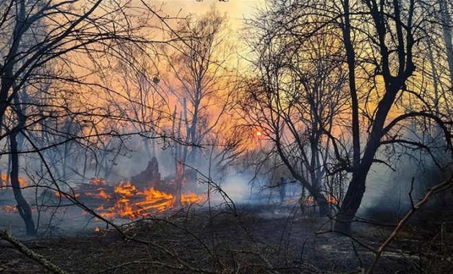
[{"label": "entire largest dark bare tree at right, with its full twiggy crown", "polygon": [[[268,3],[266,14],[277,16],[275,21],[281,22],[283,34],[292,34],[301,41],[325,34],[336,34],[339,38],[338,44],[332,43],[327,49],[338,45],[345,55],[349,117],[342,129],[347,129],[347,133],[338,134],[327,127],[322,130],[332,144],[335,161],[329,173],[345,172],[351,178],[335,225],[338,231],[350,232],[371,166],[392,164],[376,157],[379,149],[393,145],[429,149],[423,141],[410,140],[403,133],[411,119],[439,125],[447,141],[444,146],[451,148],[448,115],[435,114],[429,106],[425,108],[423,93],[413,84],[419,73],[418,45],[426,38],[420,26],[434,14],[433,5],[413,0],[272,0]],[[292,22],[295,23],[291,25]],[[270,28],[268,32],[273,31]],[[395,107],[408,95],[414,95],[419,107],[398,113]],[[281,138],[276,141],[281,143]]]}]

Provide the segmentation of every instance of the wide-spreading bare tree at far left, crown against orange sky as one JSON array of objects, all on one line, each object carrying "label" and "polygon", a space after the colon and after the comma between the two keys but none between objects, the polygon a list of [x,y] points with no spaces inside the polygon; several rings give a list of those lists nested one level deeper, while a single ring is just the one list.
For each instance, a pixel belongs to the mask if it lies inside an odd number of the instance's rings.
[{"label": "wide-spreading bare tree at far left, crown against orange sky", "polygon": [[[31,214],[27,210],[30,207],[21,199],[21,188],[17,185],[19,155],[37,153],[45,161],[42,151],[62,146],[61,150],[54,149],[54,153],[60,155],[59,177],[67,180],[73,141],[84,139],[85,144],[78,143],[89,147],[100,136],[146,134],[108,128],[113,120],[130,119],[109,109],[104,102],[121,94],[103,86],[94,76],[109,68],[110,58],[121,58],[133,65],[135,51],[152,52],[158,40],[144,32],[164,29],[165,19],[159,16],[157,8],[144,3],[142,8],[135,8],[130,1],[23,0],[3,1],[0,5],[0,121],[4,129],[0,139],[8,137],[10,142],[10,149],[2,154],[11,155],[14,195],[22,209],[27,233],[32,234]],[[157,23],[150,23],[152,20]],[[124,47],[126,44],[130,47]],[[130,51],[131,47],[134,51]],[[49,82],[47,88],[41,87],[41,83]],[[97,95],[95,101],[93,95]],[[101,122],[106,126],[102,132],[78,130],[82,125]],[[61,126],[62,123],[66,126]],[[35,133],[39,131],[47,132],[50,142],[36,142]],[[104,157],[104,166],[107,162]],[[49,173],[49,165],[45,166]],[[111,167],[104,170],[108,175]]]}]

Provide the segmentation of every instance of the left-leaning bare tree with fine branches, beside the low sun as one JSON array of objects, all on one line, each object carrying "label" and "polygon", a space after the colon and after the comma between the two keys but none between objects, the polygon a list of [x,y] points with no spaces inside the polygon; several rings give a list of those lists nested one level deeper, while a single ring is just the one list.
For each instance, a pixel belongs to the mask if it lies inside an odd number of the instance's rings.
[{"label": "left-leaning bare tree with fine branches, beside the low sun", "polygon": [[256,76],[244,79],[237,105],[247,125],[268,140],[268,153],[281,158],[325,216],[323,181],[332,142],[324,132],[338,123],[345,103],[342,53],[332,46],[338,44],[334,32],[301,40],[299,22],[288,13],[264,10],[248,24]]}]

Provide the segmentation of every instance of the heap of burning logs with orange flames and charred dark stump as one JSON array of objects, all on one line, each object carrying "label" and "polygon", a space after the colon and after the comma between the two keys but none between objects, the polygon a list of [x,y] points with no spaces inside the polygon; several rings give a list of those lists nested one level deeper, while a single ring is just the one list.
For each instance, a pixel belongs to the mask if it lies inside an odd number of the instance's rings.
[{"label": "heap of burning logs with orange flames and charred dark stump", "polygon": [[[187,174],[196,175],[190,171]],[[132,182],[119,182],[114,187],[105,179],[91,178],[89,184],[79,184],[74,191],[76,197],[91,205],[104,218],[137,219],[204,200],[203,195],[183,192],[182,187],[186,186],[189,177],[187,174],[183,173],[181,165],[176,177],[178,182],[176,179],[161,180],[159,164],[156,158],[152,158],[145,171],[132,176]],[[56,197],[59,195],[55,192]]]}]

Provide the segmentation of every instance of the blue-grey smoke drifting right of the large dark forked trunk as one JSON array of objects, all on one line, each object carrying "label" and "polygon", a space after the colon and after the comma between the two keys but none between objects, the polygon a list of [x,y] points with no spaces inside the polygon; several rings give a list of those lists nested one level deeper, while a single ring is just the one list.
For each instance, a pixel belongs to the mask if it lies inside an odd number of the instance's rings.
[{"label": "blue-grey smoke drifting right of the large dark forked trunk", "polygon": [[[358,214],[368,219],[387,220],[396,220],[406,214],[412,202],[417,203],[430,187],[443,182],[451,173],[448,159],[442,155],[437,155],[436,163],[428,153],[406,152],[393,162],[393,169],[375,164],[367,177],[367,190]],[[379,157],[385,156],[380,153]],[[441,170],[439,166],[445,166],[445,169]],[[430,205],[445,204],[443,199],[443,195],[437,195]]]}]

